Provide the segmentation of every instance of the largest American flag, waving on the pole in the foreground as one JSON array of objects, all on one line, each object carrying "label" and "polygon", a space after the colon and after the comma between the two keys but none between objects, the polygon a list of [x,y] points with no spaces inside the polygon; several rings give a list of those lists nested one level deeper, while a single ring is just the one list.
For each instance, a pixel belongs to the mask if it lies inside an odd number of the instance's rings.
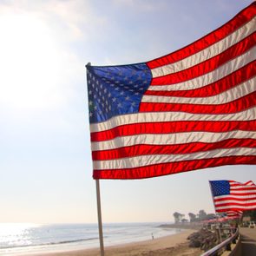
[{"label": "largest American flag, waving on the pole in the foreground", "polygon": [[95,179],[256,164],[256,3],[187,47],[87,65]]}]

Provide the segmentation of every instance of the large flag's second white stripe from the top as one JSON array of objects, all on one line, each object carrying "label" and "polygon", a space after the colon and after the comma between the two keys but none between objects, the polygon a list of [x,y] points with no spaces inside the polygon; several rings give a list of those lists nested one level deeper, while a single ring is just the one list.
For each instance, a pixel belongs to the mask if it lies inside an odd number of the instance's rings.
[{"label": "large flag's second white stripe from the top", "polygon": [[198,89],[206,86],[209,83],[216,82],[221,78],[233,73],[235,70],[244,67],[247,63],[253,62],[256,56],[256,47],[246,51],[245,54],[238,56],[226,62],[224,65],[221,65],[220,68],[214,69],[212,72],[209,72],[205,75],[200,75],[193,79],[178,82],[174,84],[167,85],[151,85],[148,90],[157,90],[157,91],[173,91],[173,90],[187,90],[187,89]]}]

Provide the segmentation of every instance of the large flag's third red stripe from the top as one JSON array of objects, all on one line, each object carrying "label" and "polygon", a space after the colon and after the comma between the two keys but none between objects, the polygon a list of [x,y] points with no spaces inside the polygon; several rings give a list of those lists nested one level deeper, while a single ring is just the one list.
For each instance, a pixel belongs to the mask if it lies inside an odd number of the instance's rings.
[{"label": "large flag's third red stripe from the top", "polygon": [[245,82],[246,80],[249,80],[254,75],[256,75],[256,61],[248,63],[241,69],[238,69],[232,74],[226,75],[217,82],[210,83],[203,88],[177,91],[147,90],[145,95],[162,95],[174,97],[207,97],[211,95],[218,95],[228,89],[232,89],[236,85]]}]

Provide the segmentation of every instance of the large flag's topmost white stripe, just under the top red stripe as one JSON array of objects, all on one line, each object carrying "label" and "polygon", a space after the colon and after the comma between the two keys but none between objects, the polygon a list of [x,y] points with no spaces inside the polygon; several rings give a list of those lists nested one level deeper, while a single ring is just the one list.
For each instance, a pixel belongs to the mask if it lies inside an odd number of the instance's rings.
[{"label": "large flag's topmost white stripe, just under the top red stripe", "polygon": [[256,17],[254,17],[249,23],[246,23],[239,30],[234,31],[231,35],[226,36],[219,42],[212,44],[206,49],[200,50],[200,52],[195,53],[192,56],[187,56],[187,58],[184,58],[179,62],[174,62],[152,69],[151,71],[153,77],[169,75],[184,69],[189,69],[200,62],[205,62],[213,56],[219,55],[221,52],[233,46],[235,43],[242,41],[244,38],[246,38],[246,36],[251,35],[256,30],[255,21]]}]

